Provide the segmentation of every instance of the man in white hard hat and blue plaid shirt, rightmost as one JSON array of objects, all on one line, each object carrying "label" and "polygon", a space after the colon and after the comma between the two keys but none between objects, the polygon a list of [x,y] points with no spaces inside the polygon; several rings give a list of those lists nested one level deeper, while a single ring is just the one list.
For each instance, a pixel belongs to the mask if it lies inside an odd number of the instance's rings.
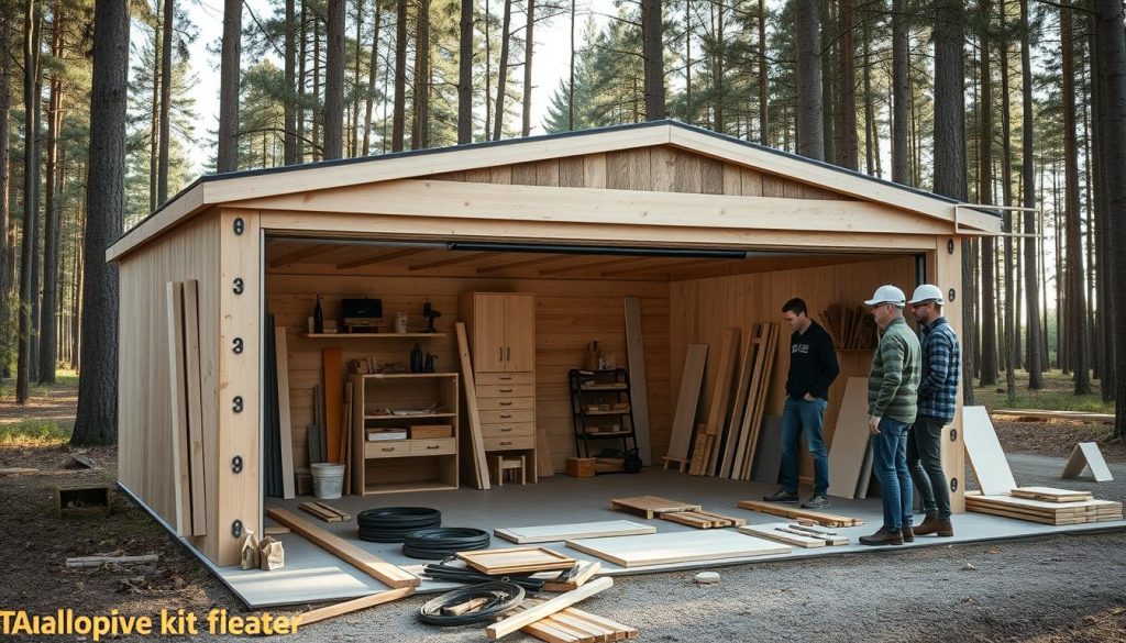
[{"label": "man in white hard hat and blue plaid shirt, rightmost", "polygon": [[962,352],[958,336],[942,316],[942,301],[938,286],[923,284],[908,302],[923,332],[919,413],[908,435],[908,466],[927,511],[922,524],[914,528],[917,536],[954,535],[950,491],[942,473],[942,427],[954,421]]}]

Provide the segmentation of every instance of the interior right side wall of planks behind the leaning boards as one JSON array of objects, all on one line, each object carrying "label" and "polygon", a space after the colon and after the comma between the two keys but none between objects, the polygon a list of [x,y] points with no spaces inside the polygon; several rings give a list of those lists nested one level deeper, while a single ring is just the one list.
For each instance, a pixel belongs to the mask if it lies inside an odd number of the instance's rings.
[{"label": "interior right side wall of planks behind the leaning boards", "polygon": [[[879,259],[863,264],[824,266],[673,282],[670,284],[669,301],[671,320],[669,329],[671,393],[677,399],[680,373],[683,369],[685,350],[689,343],[707,343],[708,368],[697,418],[707,418],[712,400],[720,348],[727,328],[741,330],[740,341],[747,340],[752,325],[761,322],[778,322],[778,351],[775,356],[774,373],[767,399],[767,416],[781,413],[786,398],[786,375],[789,369],[789,327],[781,320],[781,306],[790,297],[802,297],[810,315],[823,323],[821,312],[833,303],[858,304],[872,296],[882,284],[895,284],[905,293],[914,289],[914,257]],[[742,348],[740,348],[740,355]],[[824,437],[832,444],[837,414],[848,377],[867,376],[872,356],[867,351],[838,351],[841,374],[830,390],[829,408],[825,410]],[[812,459],[803,455],[802,474],[812,475]]]}]

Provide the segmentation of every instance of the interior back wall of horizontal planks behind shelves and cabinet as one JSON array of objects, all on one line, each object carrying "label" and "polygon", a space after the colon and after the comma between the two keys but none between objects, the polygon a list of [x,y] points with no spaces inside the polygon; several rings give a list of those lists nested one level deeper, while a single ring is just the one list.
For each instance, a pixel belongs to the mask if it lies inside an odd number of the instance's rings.
[{"label": "interior back wall of horizontal planks behind shelves and cabinet", "polygon": [[[320,267],[331,268],[331,267]],[[266,280],[267,310],[277,315],[288,334],[289,400],[293,418],[294,465],[307,466],[306,427],[313,420],[313,386],[321,383],[321,350],[339,346],[345,364],[349,359],[374,356],[381,364],[409,364],[413,339],[310,339],[307,318],[312,315],[318,293],[323,295],[325,319],[339,319],[340,300],[378,297],[383,300],[385,329],[390,330],[396,312],[410,315],[411,330],[425,327],[422,304],[429,298],[443,313],[437,325],[445,338],[423,340],[423,351],[438,356],[439,370],[458,368],[454,323],[459,320],[458,298],[463,293],[521,292],[536,295],[536,420],[547,429],[552,462],[563,471],[565,459],[574,455],[569,368],[582,366],[583,348],[598,340],[617,363],[626,364],[624,297],[637,296],[642,306],[649,383],[650,425],[654,454],[668,447],[671,422],[669,408],[669,285],[663,282],[501,279],[459,277],[402,277],[373,274],[327,275],[272,271]],[[462,427],[464,430],[465,427]],[[615,446],[608,441],[607,446]]]}]

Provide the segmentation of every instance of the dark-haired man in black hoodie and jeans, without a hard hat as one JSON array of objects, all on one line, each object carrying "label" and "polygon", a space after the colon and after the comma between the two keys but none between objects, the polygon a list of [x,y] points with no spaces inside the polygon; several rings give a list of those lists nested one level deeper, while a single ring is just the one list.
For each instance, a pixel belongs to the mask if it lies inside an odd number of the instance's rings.
[{"label": "dark-haired man in black hoodie and jeans, without a hard hat", "polygon": [[789,375],[786,379],[786,407],[781,413],[781,489],[765,500],[797,502],[798,445],[813,456],[813,495],[802,503],[806,509],[829,507],[829,452],[821,432],[829,405],[829,385],[840,374],[833,340],[825,329],[811,320],[805,302],[793,298],[781,307],[781,316],[794,330],[789,337]]}]

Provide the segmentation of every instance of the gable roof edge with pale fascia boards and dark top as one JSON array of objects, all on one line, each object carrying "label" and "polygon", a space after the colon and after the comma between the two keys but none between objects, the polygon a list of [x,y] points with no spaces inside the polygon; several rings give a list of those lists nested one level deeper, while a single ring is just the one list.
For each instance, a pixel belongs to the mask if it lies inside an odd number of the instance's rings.
[{"label": "gable roof edge with pale fascia boards and dark top", "polygon": [[218,204],[654,145],[671,145],[753,170],[816,185],[861,200],[949,221],[951,233],[956,227],[954,224],[984,233],[997,233],[1000,230],[1000,217],[993,211],[958,208],[959,212],[956,213],[956,205],[965,205],[956,199],[678,120],[665,119],[449,148],[410,150],[375,157],[205,175],[126,231],[107,250],[107,260],[122,257],[159,235],[163,230]]}]

